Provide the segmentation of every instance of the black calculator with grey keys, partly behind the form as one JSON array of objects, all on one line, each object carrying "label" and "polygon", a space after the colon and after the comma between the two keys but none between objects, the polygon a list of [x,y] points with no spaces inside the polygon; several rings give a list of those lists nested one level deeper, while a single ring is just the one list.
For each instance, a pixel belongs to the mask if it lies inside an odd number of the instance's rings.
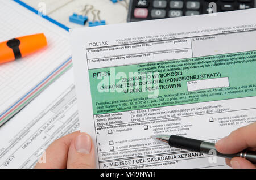
[{"label": "black calculator with grey keys, partly behind the form", "polygon": [[130,0],[127,22],[255,8],[256,0]]}]

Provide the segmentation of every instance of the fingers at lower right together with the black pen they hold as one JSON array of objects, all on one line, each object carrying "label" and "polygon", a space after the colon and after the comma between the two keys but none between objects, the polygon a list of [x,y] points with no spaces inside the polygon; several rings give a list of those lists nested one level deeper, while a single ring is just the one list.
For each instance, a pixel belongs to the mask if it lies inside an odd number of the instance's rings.
[{"label": "fingers at lower right together with the black pen they hold", "polygon": [[225,157],[232,168],[256,168],[256,122],[238,128],[216,144],[176,135],[154,135],[153,138],[171,147],[201,153],[214,150],[216,156]]}]

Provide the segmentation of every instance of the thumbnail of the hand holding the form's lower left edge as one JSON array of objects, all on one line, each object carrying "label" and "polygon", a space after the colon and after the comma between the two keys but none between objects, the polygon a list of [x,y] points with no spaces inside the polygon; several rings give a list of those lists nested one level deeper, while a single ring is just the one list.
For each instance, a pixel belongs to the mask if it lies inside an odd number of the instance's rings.
[{"label": "thumbnail of the hand holding the form's lower left edge", "polygon": [[76,137],[75,147],[76,151],[83,154],[89,154],[92,142],[88,135],[79,135]]}]

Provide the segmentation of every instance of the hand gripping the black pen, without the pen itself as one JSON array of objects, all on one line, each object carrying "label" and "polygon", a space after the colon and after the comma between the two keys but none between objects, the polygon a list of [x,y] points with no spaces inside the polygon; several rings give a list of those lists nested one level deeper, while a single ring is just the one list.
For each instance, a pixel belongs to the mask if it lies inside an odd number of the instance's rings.
[{"label": "hand gripping the black pen, without the pen itself", "polygon": [[[219,140],[215,147],[218,152],[223,154],[233,154],[244,149],[256,149],[256,122],[250,125],[238,128],[231,132],[229,136]],[[232,168],[256,168],[254,164],[242,157],[234,157],[231,160],[226,159],[226,164]]]}]

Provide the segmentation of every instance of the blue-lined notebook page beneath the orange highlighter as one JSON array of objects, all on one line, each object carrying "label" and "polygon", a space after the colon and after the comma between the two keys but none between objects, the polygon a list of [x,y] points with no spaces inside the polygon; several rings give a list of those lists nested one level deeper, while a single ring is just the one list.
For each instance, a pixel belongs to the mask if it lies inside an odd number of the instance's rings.
[{"label": "blue-lined notebook page beneath the orange highlighter", "polygon": [[[68,32],[14,1],[0,0],[0,42],[44,33],[48,46],[0,65],[0,115],[71,56]],[[0,52],[1,53],[1,52]]]}]

